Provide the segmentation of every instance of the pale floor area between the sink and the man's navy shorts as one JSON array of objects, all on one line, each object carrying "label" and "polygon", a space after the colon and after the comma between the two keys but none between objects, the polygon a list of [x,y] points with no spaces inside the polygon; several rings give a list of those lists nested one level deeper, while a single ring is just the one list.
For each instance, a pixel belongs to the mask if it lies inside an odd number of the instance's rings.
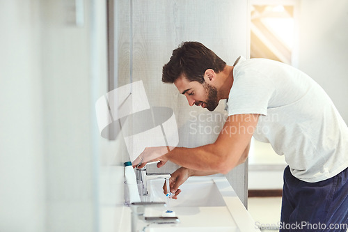
[{"label": "pale floor area between the sink and the man's navy shorts", "polygon": [[281,197],[250,197],[248,211],[261,231],[275,232],[280,222]]}]

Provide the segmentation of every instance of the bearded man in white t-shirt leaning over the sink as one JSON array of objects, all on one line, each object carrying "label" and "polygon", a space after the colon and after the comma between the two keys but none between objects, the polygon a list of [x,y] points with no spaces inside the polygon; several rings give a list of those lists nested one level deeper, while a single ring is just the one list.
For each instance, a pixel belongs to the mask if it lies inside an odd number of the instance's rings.
[{"label": "bearded man in white t-shirt leaning over the sink", "polygon": [[170,180],[175,198],[189,176],[228,173],[244,162],[253,136],[269,142],[289,165],[280,231],[299,229],[294,224],[303,222],[326,224],[326,229],[348,224],[348,128],[308,75],[267,59],[226,65],[199,42],[184,42],[164,65],[162,81],[175,84],[191,106],[212,111],[219,100],[228,100],[228,118],[214,144],[141,153],[139,167],[150,160],[160,160],[157,167],[168,160],[182,166]]}]

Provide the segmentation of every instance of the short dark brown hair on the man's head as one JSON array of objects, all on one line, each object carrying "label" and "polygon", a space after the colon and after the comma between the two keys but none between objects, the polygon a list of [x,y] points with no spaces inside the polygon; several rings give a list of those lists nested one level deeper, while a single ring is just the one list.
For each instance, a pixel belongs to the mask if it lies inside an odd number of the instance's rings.
[{"label": "short dark brown hair on the man's head", "polygon": [[200,42],[182,42],[163,66],[162,82],[173,83],[184,75],[189,82],[203,84],[205,70],[210,68],[219,73],[225,66],[225,61]]}]

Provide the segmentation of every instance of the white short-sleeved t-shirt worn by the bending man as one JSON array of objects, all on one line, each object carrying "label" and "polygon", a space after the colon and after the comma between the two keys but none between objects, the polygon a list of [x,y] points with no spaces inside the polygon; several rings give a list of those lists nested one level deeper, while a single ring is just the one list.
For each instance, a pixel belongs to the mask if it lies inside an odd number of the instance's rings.
[{"label": "white short-sleeved t-shirt worn by the bending man", "polygon": [[228,115],[260,114],[253,137],[285,155],[292,175],[313,183],[348,167],[348,127],[308,75],[277,61],[241,59],[233,76]]}]

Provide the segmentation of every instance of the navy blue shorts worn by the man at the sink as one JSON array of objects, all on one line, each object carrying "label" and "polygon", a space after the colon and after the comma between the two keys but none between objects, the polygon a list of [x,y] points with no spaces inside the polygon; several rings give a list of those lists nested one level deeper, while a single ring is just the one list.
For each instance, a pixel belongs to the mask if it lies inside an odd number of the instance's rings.
[{"label": "navy blue shorts worn by the man at the sink", "polygon": [[332,178],[308,183],[284,170],[280,231],[348,229],[348,168]]}]

